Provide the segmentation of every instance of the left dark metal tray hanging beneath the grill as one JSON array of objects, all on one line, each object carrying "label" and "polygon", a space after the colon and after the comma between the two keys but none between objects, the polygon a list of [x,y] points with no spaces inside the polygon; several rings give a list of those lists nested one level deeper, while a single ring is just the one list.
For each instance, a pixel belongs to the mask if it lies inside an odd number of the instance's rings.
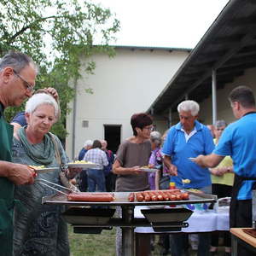
[{"label": "left dark metal tray hanging beneath the grill", "polygon": [[115,209],[72,207],[61,215],[69,224],[107,224]]}]

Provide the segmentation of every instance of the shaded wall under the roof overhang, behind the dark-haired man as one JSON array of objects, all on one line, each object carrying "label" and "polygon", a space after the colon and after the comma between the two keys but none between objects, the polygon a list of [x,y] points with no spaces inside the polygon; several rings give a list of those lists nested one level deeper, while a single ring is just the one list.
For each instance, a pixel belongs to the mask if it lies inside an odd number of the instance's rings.
[{"label": "shaded wall under the roof overhang, behind the dark-haired man", "polygon": [[[218,83],[218,81],[217,81]],[[239,85],[247,85],[252,88],[254,96],[256,96],[256,68],[247,69],[241,77],[234,80],[233,83],[225,84],[224,89],[217,91],[217,119],[224,119],[227,123],[234,122],[232,109],[228,96],[230,91]],[[212,98],[207,98],[200,103],[201,111],[200,119],[204,124],[212,124]]]}]

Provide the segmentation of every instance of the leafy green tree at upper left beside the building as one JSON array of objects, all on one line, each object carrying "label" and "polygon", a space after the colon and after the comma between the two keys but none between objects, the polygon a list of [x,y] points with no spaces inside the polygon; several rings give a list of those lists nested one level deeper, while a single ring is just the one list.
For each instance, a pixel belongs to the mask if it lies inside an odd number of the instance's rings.
[{"label": "leafy green tree at upper left beside the building", "polygon": [[[0,55],[17,49],[38,63],[36,89],[55,87],[60,95],[62,115],[54,132],[63,139],[67,103],[74,95],[68,83],[79,78],[79,56],[113,55],[108,42],[119,31],[119,20],[109,9],[89,1],[1,0],[0,8]],[[95,63],[89,62],[84,72],[93,73],[94,67]],[[7,118],[17,111],[9,109]]]}]

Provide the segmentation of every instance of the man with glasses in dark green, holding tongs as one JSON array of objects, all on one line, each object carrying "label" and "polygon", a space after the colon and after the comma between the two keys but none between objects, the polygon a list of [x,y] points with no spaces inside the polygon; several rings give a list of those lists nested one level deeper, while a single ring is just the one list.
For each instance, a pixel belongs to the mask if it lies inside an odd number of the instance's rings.
[{"label": "man with glasses in dark green, holding tongs", "polygon": [[13,125],[4,117],[4,108],[20,106],[32,96],[37,67],[32,59],[11,51],[0,60],[0,255],[12,255],[13,210],[15,184],[34,182],[34,172],[28,166],[11,163]]}]

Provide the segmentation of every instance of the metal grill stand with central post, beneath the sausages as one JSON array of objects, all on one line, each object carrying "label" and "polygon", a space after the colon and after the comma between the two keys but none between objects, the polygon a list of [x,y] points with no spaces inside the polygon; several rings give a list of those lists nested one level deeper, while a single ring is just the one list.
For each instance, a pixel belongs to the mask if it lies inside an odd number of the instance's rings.
[{"label": "metal grill stand with central post, beneath the sausages", "polygon": [[[188,191],[186,191],[188,192]],[[108,206],[108,207],[121,207],[122,215],[117,218],[110,218],[107,224],[73,224],[76,229],[83,229],[84,227],[113,227],[119,226],[122,229],[122,252],[125,256],[134,255],[134,229],[135,227],[152,226],[146,218],[134,218],[134,208],[136,206],[170,206],[170,205],[183,205],[183,204],[196,204],[217,201],[216,195],[207,195],[203,193],[195,193],[189,191],[189,200],[187,201],[128,201],[128,195],[131,192],[115,192],[113,193],[115,200],[111,202],[86,202],[86,201],[67,201],[67,195],[56,194],[45,196],[42,199],[43,204],[59,204],[73,207],[79,206]],[[188,224],[173,224],[173,223],[159,223],[154,224],[157,227],[170,228],[173,227],[186,227]]]}]

